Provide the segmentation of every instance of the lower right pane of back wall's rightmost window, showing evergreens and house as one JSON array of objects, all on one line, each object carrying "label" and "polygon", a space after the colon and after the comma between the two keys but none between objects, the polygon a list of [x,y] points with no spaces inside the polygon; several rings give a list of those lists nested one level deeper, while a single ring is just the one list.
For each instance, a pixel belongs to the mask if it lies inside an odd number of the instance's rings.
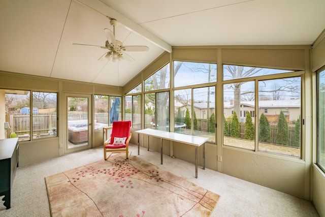
[{"label": "lower right pane of back wall's rightmost window, showing evergreens and house", "polygon": [[300,77],[258,81],[258,116],[258,150],[301,156]]}]

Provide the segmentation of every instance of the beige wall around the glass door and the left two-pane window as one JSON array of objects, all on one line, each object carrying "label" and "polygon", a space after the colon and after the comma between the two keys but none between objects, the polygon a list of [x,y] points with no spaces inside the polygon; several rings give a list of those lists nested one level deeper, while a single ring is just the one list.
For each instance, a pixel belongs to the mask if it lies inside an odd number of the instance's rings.
[{"label": "beige wall around the glass door and the left two-pane window", "polygon": [[[57,92],[57,113],[58,113],[58,137],[46,138],[32,141],[19,142],[19,164],[29,164],[34,162],[43,161],[45,159],[55,158],[62,156],[64,151],[64,139],[66,139],[66,134],[64,133],[66,123],[66,111],[63,107],[64,105],[64,93],[73,94],[87,94],[87,95],[111,95],[111,96],[121,96],[121,88],[114,86],[91,84],[84,82],[75,82],[60,79],[51,79],[45,77],[29,76],[13,72],[3,72],[0,71],[0,94],[3,91],[1,89],[27,89],[35,91],[53,91]],[[3,94],[4,95],[4,94]],[[0,99],[4,99],[4,96]],[[5,118],[5,108],[4,103],[0,106],[0,130],[4,128]],[[0,134],[0,138],[4,134]],[[92,132],[93,137],[91,142],[91,147],[101,146],[103,143],[103,132],[95,131]]]}]

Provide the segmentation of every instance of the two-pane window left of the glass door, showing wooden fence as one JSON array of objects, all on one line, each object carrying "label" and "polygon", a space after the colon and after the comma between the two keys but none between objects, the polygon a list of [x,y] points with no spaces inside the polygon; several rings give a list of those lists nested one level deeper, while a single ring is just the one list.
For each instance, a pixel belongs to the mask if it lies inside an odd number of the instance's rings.
[{"label": "two-pane window left of the glass door, showing wooden fence", "polygon": [[5,90],[5,93],[6,138],[18,137],[24,141],[57,136],[56,93],[28,90]]}]

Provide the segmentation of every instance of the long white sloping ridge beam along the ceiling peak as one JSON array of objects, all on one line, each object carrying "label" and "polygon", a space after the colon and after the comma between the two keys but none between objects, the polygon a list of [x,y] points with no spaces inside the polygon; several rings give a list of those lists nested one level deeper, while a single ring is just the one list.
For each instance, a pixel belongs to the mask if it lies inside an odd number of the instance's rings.
[{"label": "long white sloping ridge beam along the ceiling peak", "polygon": [[137,33],[144,37],[146,40],[150,41],[151,43],[155,44],[156,46],[160,47],[161,49],[166,50],[167,52],[172,52],[172,46],[165,42],[164,40],[161,40],[157,36],[153,35],[152,33],[148,32],[147,29],[143,28],[142,26],[138,25],[134,21],[128,19],[127,17],[123,16],[122,14],[118,13],[117,11],[113,10],[111,7],[107,6],[106,4],[96,0],[76,0],[76,2],[81,3],[82,5],[85,5],[104,16],[114,18],[119,23],[124,25],[128,30]]}]

